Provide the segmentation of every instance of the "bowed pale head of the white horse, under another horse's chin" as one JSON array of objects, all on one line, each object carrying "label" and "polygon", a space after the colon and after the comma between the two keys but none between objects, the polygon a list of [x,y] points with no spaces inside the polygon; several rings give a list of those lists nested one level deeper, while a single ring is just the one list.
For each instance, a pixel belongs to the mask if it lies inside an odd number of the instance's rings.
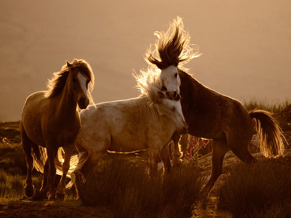
[{"label": "bowed pale head of the white horse, under another horse's chin", "polygon": [[157,94],[158,113],[168,118],[180,134],[188,133],[188,125],[182,113],[180,100],[170,100],[165,90],[158,91]]}]

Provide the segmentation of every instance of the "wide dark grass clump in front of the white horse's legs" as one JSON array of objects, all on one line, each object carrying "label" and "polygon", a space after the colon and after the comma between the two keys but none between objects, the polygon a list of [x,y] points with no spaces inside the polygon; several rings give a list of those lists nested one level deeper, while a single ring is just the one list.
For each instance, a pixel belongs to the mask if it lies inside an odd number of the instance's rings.
[{"label": "wide dark grass clump in front of the white horse's legs", "polygon": [[121,157],[103,161],[78,182],[80,199],[85,205],[109,207],[114,217],[191,217],[204,182],[196,168],[183,164],[150,179],[147,171],[146,164]]}]

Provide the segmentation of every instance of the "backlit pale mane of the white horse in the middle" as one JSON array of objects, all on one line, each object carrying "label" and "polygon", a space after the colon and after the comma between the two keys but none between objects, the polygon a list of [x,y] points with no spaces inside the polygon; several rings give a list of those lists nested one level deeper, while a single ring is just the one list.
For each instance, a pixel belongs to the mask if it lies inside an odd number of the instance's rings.
[{"label": "backlit pale mane of the white horse in the middle", "polygon": [[160,70],[153,66],[148,66],[148,70],[140,70],[140,75],[133,74],[136,79],[138,88],[141,91],[140,96],[146,96],[154,104],[158,102],[160,98],[158,91],[161,90],[162,80],[160,79]]}]

